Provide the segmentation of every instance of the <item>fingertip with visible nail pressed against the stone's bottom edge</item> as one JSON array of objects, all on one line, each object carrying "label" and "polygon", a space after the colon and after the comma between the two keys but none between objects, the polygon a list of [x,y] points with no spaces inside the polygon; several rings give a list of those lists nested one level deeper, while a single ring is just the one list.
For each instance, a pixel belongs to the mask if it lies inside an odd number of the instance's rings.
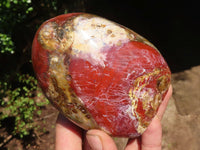
[{"label": "fingertip with visible nail pressed against the stone's bottom edge", "polygon": [[113,139],[101,130],[89,130],[86,133],[86,140],[92,150],[117,150]]}]

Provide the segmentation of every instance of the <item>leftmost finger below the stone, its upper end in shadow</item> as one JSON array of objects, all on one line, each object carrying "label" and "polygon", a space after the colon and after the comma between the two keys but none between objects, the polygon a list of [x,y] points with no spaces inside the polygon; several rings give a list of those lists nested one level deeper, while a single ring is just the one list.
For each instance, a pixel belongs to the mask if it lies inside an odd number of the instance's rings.
[{"label": "leftmost finger below the stone, its upper end in shadow", "polygon": [[59,115],[56,122],[56,150],[81,150],[82,130],[64,116]]}]

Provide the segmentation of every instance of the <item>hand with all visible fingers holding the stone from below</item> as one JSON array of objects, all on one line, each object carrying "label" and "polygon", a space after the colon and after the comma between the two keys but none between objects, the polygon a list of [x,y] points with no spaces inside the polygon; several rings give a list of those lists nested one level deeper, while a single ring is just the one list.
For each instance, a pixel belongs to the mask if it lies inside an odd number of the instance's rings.
[{"label": "hand with all visible fingers holding the stone from below", "polygon": [[[161,119],[172,95],[170,86],[146,131],[138,138],[129,139],[125,150],[161,150]],[[59,115],[56,122],[56,150],[117,150],[112,137],[101,130],[84,131],[64,116]]]}]

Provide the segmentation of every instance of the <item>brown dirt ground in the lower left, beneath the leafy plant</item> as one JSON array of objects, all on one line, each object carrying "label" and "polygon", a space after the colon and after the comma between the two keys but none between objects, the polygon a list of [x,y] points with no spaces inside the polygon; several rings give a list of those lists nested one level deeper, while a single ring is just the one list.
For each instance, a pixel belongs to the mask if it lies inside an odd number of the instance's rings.
[{"label": "brown dirt ground in the lower left, beneath the leafy plant", "polygon": [[[53,150],[55,141],[55,122],[58,111],[51,106],[47,105],[43,108],[42,114],[37,121],[38,129],[35,130],[30,136],[23,139],[18,137],[11,137],[10,140],[0,150]],[[0,128],[0,143],[9,137],[7,128]]]}]

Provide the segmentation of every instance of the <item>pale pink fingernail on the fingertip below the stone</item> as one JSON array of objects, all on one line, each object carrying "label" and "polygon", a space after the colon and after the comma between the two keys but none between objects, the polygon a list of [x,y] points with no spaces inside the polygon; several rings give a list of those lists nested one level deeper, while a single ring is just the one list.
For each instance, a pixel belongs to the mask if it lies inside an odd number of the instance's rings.
[{"label": "pale pink fingernail on the fingertip below the stone", "polygon": [[92,150],[103,150],[103,146],[99,136],[87,134],[86,138]]}]

